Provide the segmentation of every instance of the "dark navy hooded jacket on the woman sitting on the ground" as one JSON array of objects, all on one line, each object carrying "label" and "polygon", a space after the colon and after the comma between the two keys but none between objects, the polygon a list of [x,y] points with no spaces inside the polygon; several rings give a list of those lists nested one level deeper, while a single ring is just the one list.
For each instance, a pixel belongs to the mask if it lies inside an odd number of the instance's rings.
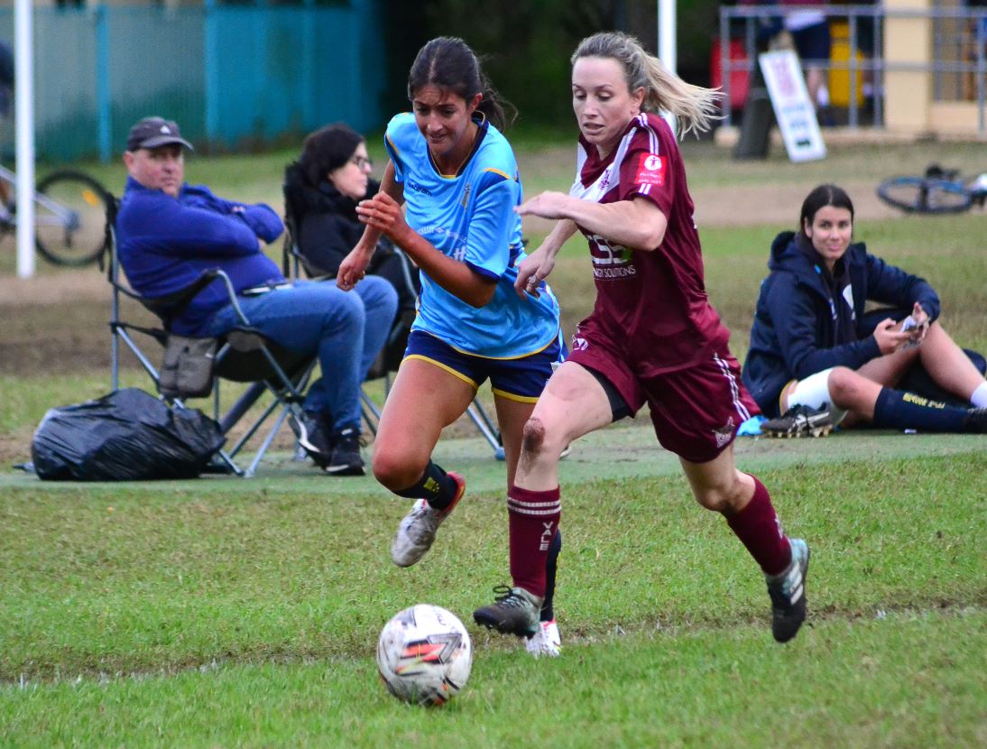
[{"label": "dark navy hooded jacket on the woman sitting on the ground", "polygon": [[[771,245],[771,272],[761,282],[742,375],[767,416],[778,415],[790,381],[835,366],[858,369],[881,355],[863,329],[868,300],[907,310],[918,302],[930,320],[939,317],[939,297],[925,279],[868,255],[864,243],[851,245],[840,262],[837,276],[846,285],[834,288],[825,268],[799,249],[793,232],[779,234]],[[849,325],[841,326],[841,320]]]}]

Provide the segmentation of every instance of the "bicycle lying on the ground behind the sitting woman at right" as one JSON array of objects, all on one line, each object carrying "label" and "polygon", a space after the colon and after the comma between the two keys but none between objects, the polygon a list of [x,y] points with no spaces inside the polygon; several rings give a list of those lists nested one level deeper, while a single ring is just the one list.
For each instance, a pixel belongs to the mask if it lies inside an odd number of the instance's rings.
[{"label": "bicycle lying on the ground behind the sitting woman at right", "polygon": [[877,196],[906,213],[962,213],[987,202],[987,173],[964,180],[958,169],[930,164],[922,177],[892,177]]}]

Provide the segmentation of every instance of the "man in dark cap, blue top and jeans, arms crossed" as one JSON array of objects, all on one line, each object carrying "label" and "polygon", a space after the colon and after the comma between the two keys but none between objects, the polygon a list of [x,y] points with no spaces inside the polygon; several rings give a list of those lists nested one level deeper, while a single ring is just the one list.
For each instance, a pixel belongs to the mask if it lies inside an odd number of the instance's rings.
[{"label": "man in dark cap, blue top and jeans, arms crossed", "polygon": [[[288,283],[264,247],[283,225],[268,205],[218,197],[185,183],[185,149],[177,123],[145,117],[127,137],[129,177],[116,217],[119,261],[142,296],[167,296],[221,268],[254,328],[285,348],[318,354],[322,379],[304,410],[315,462],[338,476],[362,476],[360,384],[383,346],[397,307],[386,280],[364,279],[353,294],[333,283]],[[222,281],[201,291],[172,320],[173,333],[212,337],[239,324]]]}]

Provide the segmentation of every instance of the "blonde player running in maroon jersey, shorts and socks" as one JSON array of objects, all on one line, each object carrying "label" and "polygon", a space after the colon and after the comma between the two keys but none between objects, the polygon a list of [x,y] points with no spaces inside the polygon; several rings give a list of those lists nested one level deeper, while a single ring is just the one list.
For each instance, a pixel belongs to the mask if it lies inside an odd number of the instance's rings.
[{"label": "blonde player running in maroon jersey, shorts and socks", "polygon": [[518,207],[559,223],[521,263],[515,288],[537,293],[578,230],[589,243],[596,303],[525,424],[507,502],[513,587],[474,612],[478,624],[520,637],[534,631],[546,540],[561,514],[559,456],[573,439],[645,404],[696,500],[726,518],[767,576],[774,637],[795,637],[805,618],[808,547],[782,532],[768,490],[734,465],[736,429],[757,406],[707,298],[675,135],[654,113],[671,112],[683,132],[708,129],[716,97],[623,34],[585,38],[572,55],[576,179],[569,194],[543,192]]}]

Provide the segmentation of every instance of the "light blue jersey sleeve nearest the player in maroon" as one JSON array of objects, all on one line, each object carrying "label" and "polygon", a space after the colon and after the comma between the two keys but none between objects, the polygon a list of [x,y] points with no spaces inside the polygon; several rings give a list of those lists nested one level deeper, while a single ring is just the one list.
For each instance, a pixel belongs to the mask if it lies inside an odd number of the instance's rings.
[{"label": "light blue jersey sleeve nearest the player in maroon", "polygon": [[499,172],[488,170],[477,186],[478,194],[470,216],[470,236],[466,264],[481,275],[498,279],[510,261],[510,238],[517,204],[517,183]]}]

